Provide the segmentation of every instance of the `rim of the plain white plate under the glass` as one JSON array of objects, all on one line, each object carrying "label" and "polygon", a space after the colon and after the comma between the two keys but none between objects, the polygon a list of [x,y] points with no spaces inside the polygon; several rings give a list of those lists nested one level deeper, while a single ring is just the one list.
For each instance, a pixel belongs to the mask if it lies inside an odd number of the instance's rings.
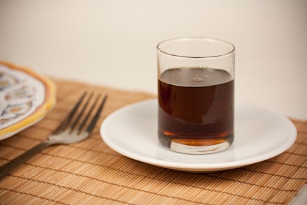
[{"label": "rim of the plain white plate under the glass", "polygon": [[[289,140],[287,140],[287,143],[283,144],[283,146],[278,147],[278,149],[274,149],[273,151],[269,151],[267,153],[262,153],[261,155],[257,155],[253,158],[246,158],[246,159],[242,159],[242,160],[234,160],[231,162],[197,162],[197,163],[193,163],[193,162],[174,162],[174,161],[168,161],[168,160],[159,160],[157,158],[151,158],[148,156],[140,156],[137,153],[133,153],[130,151],[126,151],[126,149],[123,149],[121,146],[118,146],[117,144],[114,144],[112,141],[109,140],[110,137],[106,137],[105,135],[105,125],[108,121],[110,121],[110,119],[112,118],[112,116],[114,116],[114,114],[117,114],[119,112],[123,112],[125,109],[129,109],[130,107],[135,107],[137,105],[140,105],[142,103],[152,103],[154,101],[154,103],[158,103],[158,100],[156,98],[153,99],[149,99],[149,100],[142,100],[140,102],[135,102],[132,103],[130,105],[125,105],[119,109],[117,109],[116,111],[112,112],[112,114],[110,114],[109,116],[107,116],[107,118],[103,121],[103,123],[100,126],[100,137],[103,139],[103,142],[105,142],[105,144],[107,144],[107,146],[109,146],[111,149],[113,149],[114,151],[117,151],[117,153],[120,153],[121,155],[125,155],[128,158],[131,158],[133,160],[137,160],[140,162],[144,162],[150,165],[155,165],[158,167],[165,167],[168,169],[176,169],[176,170],[184,170],[184,171],[196,171],[196,172],[206,172],[206,171],[218,171],[218,170],[225,170],[225,169],[234,169],[237,167],[244,167],[246,165],[252,165],[255,164],[257,162],[262,162],[264,160],[268,160],[269,158],[273,158],[276,155],[279,155],[280,153],[283,153],[284,151],[286,151],[287,149],[290,148],[290,146],[292,146],[292,144],[294,144],[295,140],[297,139],[297,128],[294,126],[294,124],[292,123],[292,121],[290,121],[290,119],[288,119],[286,116],[284,116],[283,114],[280,114],[278,112],[272,111],[270,109],[267,109],[265,107],[261,107],[259,105],[255,105],[252,104],[250,102],[236,102],[237,103],[244,103],[247,105],[252,105],[254,107],[260,108],[260,109],[266,109],[267,111],[274,113],[275,115],[278,115],[278,117],[283,118],[287,123],[289,123],[290,126],[290,132],[291,132],[291,137]],[[166,148],[165,148],[166,149]],[[181,154],[181,153],[179,153]],[[214,155],[214,153],[212,153],[211,155]],[[171,165],[170,165],[171,164]]]}]

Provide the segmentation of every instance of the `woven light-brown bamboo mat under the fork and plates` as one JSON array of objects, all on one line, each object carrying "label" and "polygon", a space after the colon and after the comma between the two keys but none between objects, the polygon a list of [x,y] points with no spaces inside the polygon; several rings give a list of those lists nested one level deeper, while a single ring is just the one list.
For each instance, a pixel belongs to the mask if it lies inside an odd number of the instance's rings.
[{"label": "woven light-brown bamboo mat under the fork and plates", "polygon": [[0,142],[1,165],[47,138],[84,90],[108,93],[93,134],[52,146],[0,181],[0,204],[287,204],[307,182],[307,121],[293,121],[297,142],[264,162],[223,172],[189,174],[154,167],[108,148],[100,123],[147,93],[56,80],[57,105],[45,119]]}]

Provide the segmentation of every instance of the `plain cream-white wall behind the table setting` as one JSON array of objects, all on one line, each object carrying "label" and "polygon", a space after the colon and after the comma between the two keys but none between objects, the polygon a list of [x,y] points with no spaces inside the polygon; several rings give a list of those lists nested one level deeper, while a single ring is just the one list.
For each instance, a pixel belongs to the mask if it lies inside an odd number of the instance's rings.
[{"label": "plain cream-white wall behind the table setting", "polygon": [[237,47],[236,100],[307,119],[307,1],[0,0],[0,59],[156,93],[156,44],[209,36]]}]

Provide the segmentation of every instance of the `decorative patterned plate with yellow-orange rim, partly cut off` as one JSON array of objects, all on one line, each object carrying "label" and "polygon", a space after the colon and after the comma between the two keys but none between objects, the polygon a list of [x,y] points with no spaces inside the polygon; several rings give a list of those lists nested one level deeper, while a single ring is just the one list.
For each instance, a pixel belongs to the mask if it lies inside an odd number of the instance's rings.
[{"label": "decorative patterned plate with yellow-orange rim, partly cut off", "polygon": [[0,140],[43,119],[54,105],[50,79],[0,61]]}]

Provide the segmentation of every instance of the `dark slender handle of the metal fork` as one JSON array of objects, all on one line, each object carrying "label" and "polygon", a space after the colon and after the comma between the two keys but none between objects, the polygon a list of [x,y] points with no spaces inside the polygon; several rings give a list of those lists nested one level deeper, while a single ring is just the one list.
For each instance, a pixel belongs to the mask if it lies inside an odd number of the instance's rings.
[{"label": "dark slender handle of the metal fork", "polygon": [[50,146],[52,144],[53,143],[50,141],[41,142],[40,144],[34,146],[32,149],[29,149],[22,155],[19,155],[12,161],[6,163],[5,165],[2,165],[0,167],[0,180],[3,179],[8,174],[8,172],[19,167],[24,162],[27,162],[27,160],[33,158],[33,156],[36,155],[39,151],[45,149],[47,146]]}]

